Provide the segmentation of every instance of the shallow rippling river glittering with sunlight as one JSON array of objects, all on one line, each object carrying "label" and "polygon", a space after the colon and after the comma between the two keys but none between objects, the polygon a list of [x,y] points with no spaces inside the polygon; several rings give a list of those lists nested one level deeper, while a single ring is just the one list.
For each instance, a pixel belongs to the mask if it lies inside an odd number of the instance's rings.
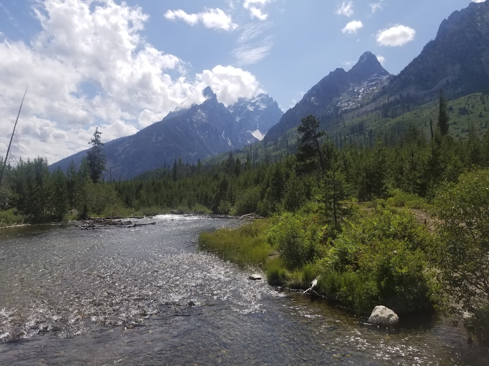
[{"label": "shallow rippling river glittering with sunlight", "polygon": [[487,365],[452,320],[380,329],[198,251],[234,220],[0,231],[0,365]]}]

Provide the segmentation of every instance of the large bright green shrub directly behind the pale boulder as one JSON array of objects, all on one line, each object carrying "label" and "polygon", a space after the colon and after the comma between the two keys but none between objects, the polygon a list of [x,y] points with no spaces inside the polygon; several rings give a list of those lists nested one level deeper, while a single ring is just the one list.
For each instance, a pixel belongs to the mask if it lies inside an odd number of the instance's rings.
[{"label": "large bright green shrub directly behind the pale boulder", "polygon": [[398,313],[431,310],[429,247],[411,215],[380,206],[345,224],[320,262],[319,287],[356,312],[379,304]]}]

